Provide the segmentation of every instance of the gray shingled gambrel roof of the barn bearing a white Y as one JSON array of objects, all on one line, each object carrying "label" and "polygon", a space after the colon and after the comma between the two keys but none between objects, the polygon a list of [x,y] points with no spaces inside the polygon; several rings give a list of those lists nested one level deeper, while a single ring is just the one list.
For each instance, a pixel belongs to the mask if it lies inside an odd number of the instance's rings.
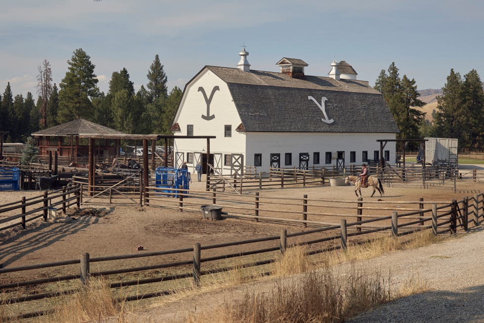
[{"label": "gray shingled gambrel roof of the barn bearing a white Y", "polygon": [[[305,76],[293,79],[266,71],[206,66],[228,84],[246,131],[271,132],[400,132],[383,95],[366,81]],[[308,99],[321,105],[323,112]]]}]

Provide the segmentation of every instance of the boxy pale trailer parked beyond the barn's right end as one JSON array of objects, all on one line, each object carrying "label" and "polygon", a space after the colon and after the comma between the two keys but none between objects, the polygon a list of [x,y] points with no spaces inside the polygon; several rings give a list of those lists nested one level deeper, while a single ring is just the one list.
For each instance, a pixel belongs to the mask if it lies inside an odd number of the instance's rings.
[{"label": "boxy pale trailer parked beyond the barn's right end", "polygon": [[425,162],[432,165],[457,167],[457,139],[426,137]]}]

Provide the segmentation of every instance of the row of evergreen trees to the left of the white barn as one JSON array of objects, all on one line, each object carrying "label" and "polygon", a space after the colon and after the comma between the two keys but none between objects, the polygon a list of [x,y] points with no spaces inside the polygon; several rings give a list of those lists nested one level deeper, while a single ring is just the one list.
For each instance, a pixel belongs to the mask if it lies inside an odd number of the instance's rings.
[{"label": "row of evergreen trees to the left of the white barn", "polygon": [[107,93],[97,86],[95,65],[81,48],[68,60],[68,71],[57,85],[50,63],[38,67],[37,101],[28,92],[13,96],[8,82],[0,95],[0,131],[6,142],[26,142],[32,132],[83,118],[129,134],[165,133],[173,120],[182,91],[167,90],[159,55],[148,69],[146,87],[135,92],[125,68],[113,72]]}]

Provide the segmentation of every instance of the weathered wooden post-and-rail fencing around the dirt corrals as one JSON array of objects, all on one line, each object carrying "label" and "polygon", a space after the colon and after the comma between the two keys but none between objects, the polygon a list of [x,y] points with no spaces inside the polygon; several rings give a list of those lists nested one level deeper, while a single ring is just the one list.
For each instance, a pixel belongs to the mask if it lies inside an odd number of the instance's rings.
[{"label": "weathered wooden post-and-rail fencing around the dirt corrals", "polygon": [[[79,290],[89,277],[98,276],[114,276],[114,279],[121,277],[120,281],[109,283],[111,288],[136,286],[136,292],[133,294],[127,295],[126,289],[124,289],[122,296],[120,295],[120,300],[132,301],[157,297],[173,293],[176,290],[176,288],[173,289],[173,287],[167,287],[167,285],[161,283],[180,281],[185,284],[199,285],[202,277],[206,275],[217,275],[236,267],[246,268],[270,264],[276,260],[278,253],[284,253],[287,247],[295,244],[310,245],[310,253],[316,254],[337,248],[344,249],[348,246],[349,238],[356,241],[362,239],[360,236],[367,235],[364,236],[367,238],[363,238],[369,240],[375,238],[375,234],[378,233],[398,237],[426,229],[432,230],[434,235],[447,232],[455,233],[459,228],[467,230],[469,224],[479,225],[484,218],[483,193],[451,202],[423,201],[423,199],[418,202],[363,202],[363,199],[335,201],[309,199],[307,196],[303,196],[299,199],[284,199],[286,200],[283,204],[284,211],[275,211],[274,204],[281,203],[277,202],[279,198],[274,196],[240,195],[217,191],[177,190],[160,192],[157,187],[147,187],[146,189],[149,194],[145,202],[153,207],[171,207],[180,212],[186,210],[201,211],[201,202],[203,204],[217,203],[223,205],[226,209],[223,214],[227,217],[245,218],[255,222],[271,221],[304,227],[311,226],[313,229],[294,233],[282,230],[281,234],[277,236],[203,246],[200,243],[195,243],[193,247],[189,248],[157,252],[102,257],[91,257],[90,254],[84,253],[79,259],[1,268],[0,275],[23,273],[25,271],[35,272],[43,269],[43,278],[28,281],[19,279],[14,283],[0,284],[0,290],[4,292],[2,306],[12,306],[21,302],[49,299],[68,294]],[[76,192],[79,192],[78,190],[79,188],[73,189]],[[66,194],[67,191],[63,191],[63,196],[66,196]],[[178,198],[175,199],[170,196],[177,196]],[[79,195],[76,195],[76,198],[79,198]],[[39,199],[36,201],[42,204],[39,210],[45,211],[46,201],[48,201],[45,193],[44,196],[31,200],[34,201],[35,199]],[[26,206],[27,201],[17,204],[21,205],[20,207]],[[352,205],[348,206],[348,204]],[[18,205],[15,205],[15,207]],[[1,205],[0,213],[6,209],[12,210],[13,208],[9,204]],[[327,211],[328,209],[335,211],[330,213]],[[14,217],[19,218],[21,216],[19,214]],[[323,222],[323,219],[334,220]],[[279,245],[274,246],[275,241],[278,241]],[[334,245],[334,242],[338,241],[339,245]],[[333,244],[328,244],[329,242],[333,242]],[[183,255],[183,260],[177,262],[163,261],[163,256],[175,254]],[[144,258],[142,266],[139,265],[140,258]],[[234,258],[241,259],[237,262],[238,265],[234,265],[234,261],[232,263],[225,262],[227,259]],[[101,263],[115,263],[115,269],[103,269],[113,268],[113,266],[101,266]],[[130,264],[132,264],[131,267],[129,267]],[[96,265],[98,265],[97,268]],[[62,267],[62,272],[65,275],[45,278],[45,269],[49,268],[50,271],[53,271],[52,268],[57,267]],[[161,269],[170,270],[170,272],[169,274],[161,274]],[[270,269],[262,267],[264,273],[267,274],[268,270]],[[145,273],[144,277],[150,277],[136,278],[136,276],[133,276],[135,273]],[[33,286],[44,286],[44,292],[29,294],[28,290]],[[160,289],[162,286],[166,286],[165,289]],[[50,303],[47,301],[38,304],[38,306],[39,308],[36,311],[22,313],[17,319],[43,315],[47,313]]]}]

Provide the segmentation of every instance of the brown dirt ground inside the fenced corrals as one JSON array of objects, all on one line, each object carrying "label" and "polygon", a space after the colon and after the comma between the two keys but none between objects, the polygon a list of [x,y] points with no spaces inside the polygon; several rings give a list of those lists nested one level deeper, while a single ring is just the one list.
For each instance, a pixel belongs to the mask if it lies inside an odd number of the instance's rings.
[{"label": "brown dirt ground inside the fenced corrals", "polygon": [[[191,189],[202,189],[204,183],[192,183]],[[472,196],[484,191],[484,183],[458,183],[457,193],[449,189],[385,188],[385,195],[378,193],[371,199],[383,201],[450,201]],[[369,199],[371,190],[363,189],[363,199]],[[312,187],[268,189],[261,196],[356,200],[354,187]],[[22,196],[41,195],[40,191],[0,192],[0,204],[18,201]],[[217,202],[223,205],[223,202]],[[200,205],[194,206],[200,208]],[[284,205],[272,204],[274,209]],[[135,204],[86,203],[81,210],[71,208],[68,214],[43,222],[29,222],[26,229],[20,226],[0,232],[1,267],[17,267],[38,263],[80,259],[85,252],[90,257],[113,256],[179,248],[190,248],[196,242],[202,245],[240,241],[263,236],[280,235],[304,230],[301,225],[282,225],[224,218],[210,221],[202,212],[179,212],[174,209],[139,206]],[[5,216],[0,214],[0,216]],[[338,222],[334,221],[333,222]],[[274,242],[276,244],[278,242]],[[144,251],[137,251],[143,246]]]}]

